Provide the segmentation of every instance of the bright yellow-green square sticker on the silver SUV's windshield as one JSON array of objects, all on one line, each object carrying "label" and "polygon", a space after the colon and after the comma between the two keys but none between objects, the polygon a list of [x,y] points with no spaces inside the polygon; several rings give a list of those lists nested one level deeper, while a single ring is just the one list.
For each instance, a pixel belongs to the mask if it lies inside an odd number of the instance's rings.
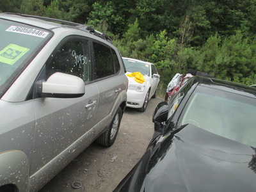
[{"label": "bright yellow-green square sticker on the silver SUV's windshield", "polygon": [[19,58],[21,58],[29,49],[20,47],[19,45],[10,44],[0,51],[0,62],[13,65]]}]

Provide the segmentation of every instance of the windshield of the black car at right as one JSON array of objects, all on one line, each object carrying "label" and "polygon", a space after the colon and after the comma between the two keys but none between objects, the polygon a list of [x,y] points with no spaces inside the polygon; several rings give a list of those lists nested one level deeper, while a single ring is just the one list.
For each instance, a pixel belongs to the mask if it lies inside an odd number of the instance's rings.
[{"label": "windshield of the black car at right", "polygon": [[[200,88],[199,88],[200,90]],[[193,93],[181,124],[193,124],[230,140],[256,147],[256,99],[204,88]]]}]

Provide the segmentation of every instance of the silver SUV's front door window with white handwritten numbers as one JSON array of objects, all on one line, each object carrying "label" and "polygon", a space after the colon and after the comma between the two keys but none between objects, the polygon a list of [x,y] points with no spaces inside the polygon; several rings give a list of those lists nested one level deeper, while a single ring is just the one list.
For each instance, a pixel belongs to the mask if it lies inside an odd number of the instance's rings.
[{"label": "silver SUV's front door window with white handwritten numbers", "polygon": [[61,45],[46,66],[46,78],[55,72],[62,72],[90,81],[90,58],[88,41],[72,39]]}]

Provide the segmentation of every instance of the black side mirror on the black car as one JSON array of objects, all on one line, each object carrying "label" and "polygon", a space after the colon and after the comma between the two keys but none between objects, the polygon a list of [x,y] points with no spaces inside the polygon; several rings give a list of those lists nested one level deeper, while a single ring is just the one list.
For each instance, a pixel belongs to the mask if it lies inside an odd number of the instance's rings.
[{"label": "black side mirror on the black car", "polygon": [[167,102],[160,102],[159,104],[157,104],[152,117],[152,121],[155,124],[155,131],[163,131],[163,122],[166,122],[168,118],[169,109],[170,107],[168,106]]}]

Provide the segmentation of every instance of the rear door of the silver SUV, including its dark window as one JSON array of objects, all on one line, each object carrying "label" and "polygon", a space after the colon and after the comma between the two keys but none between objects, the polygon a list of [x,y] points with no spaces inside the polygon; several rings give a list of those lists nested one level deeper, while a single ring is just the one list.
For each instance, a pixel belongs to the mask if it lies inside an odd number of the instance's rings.
[{"label": "rear door of the silver SUV, including its dark window", "polygon": [[[93,42],[93,52],[95,55],[95,80],[99,89],[96,121],[100,122],[111,115],[115,103],[118,102],[117,98],[120,99],[118,95],[124,90],[125,80],[118,76],[120,64],[115,50],[100,42]],[[100,131],[102,130],[96,130],[96,132]]]}]

